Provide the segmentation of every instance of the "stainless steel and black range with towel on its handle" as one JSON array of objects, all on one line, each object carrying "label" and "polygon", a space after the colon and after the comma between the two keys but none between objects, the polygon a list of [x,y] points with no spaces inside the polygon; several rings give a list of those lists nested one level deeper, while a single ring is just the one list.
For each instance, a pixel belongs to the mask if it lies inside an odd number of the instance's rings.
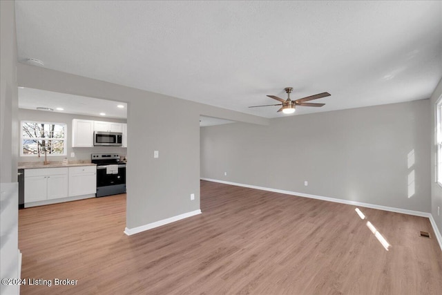
[{"label": "stainless steel and black range with towel on its handle", "polygon": [[91,162],[97,164],[97,197],[126,193],[126,164],[119,155],[93,153]]}]

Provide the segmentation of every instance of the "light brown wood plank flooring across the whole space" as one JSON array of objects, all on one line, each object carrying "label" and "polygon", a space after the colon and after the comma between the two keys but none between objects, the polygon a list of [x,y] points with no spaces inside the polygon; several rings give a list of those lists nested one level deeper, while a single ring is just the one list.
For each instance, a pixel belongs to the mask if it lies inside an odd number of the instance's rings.
[{"label": "light brown wood plank flooring across the whole space", "polygon": [[23,209],[22,278],[77,285],[21,294],[442,294],[427,218],[355,208],[201,181],[202,214],[133,236],[126,195]]}]

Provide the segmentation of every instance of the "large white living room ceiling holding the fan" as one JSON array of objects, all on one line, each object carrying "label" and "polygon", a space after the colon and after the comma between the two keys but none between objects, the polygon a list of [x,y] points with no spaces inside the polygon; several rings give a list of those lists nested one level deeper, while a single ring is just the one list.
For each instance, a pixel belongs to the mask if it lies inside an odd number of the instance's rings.
[{"label": "large white living room ceiling holding the fan", "polygon": [[280,117],[266,95],[328,91],[314,113],[430,97],[442,1],[15,1],[19,60]]}]

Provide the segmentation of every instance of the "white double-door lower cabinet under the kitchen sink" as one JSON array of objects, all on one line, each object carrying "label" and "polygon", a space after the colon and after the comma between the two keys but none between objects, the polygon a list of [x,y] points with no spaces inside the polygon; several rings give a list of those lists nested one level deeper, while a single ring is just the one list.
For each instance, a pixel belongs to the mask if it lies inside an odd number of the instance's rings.
[{"label": "white double-door lower cabinet under the kitchen sink", "polygon": [[66,198],[68,168],[25,170],[25,203]]}]

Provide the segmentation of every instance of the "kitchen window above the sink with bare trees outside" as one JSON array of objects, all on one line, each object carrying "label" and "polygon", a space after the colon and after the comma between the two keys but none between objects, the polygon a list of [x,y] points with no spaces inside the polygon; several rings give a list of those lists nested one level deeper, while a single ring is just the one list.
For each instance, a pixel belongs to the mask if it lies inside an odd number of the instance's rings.
[{"label": "kitchen window above the sink with bare trees outside", "polygon": [[21,155],[66,155],[66,124],[21,122]]}]

